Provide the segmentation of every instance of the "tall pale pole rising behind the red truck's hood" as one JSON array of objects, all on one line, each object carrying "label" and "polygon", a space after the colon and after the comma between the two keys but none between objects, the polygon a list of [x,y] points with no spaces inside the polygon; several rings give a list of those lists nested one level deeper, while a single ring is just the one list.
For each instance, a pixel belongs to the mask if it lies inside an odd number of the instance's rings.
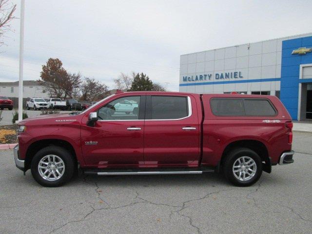
[{"label": "tall pale pole rising behind the red truck's hood", "polygon": [[25,0],[20,0],[19,122],[23,119],[24,11],[25,11]]}]

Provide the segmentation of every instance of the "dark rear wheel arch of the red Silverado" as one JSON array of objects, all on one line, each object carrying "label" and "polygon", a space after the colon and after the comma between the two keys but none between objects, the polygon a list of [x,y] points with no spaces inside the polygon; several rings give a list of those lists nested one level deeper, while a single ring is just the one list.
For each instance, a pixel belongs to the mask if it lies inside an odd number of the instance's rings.
[{"label": "dark rear wheel arch of the red Silverado", "polygon": [[[225,161],[226,156],[228,155],[229,152],[236,148],[248,148],[253,150],[255,153],[257,153],[262,161],[262,168],[263,171],[267,173],[271,173],[272,168],[271,168],[271,159],[269,156],[268,148],[266,145],[259,141],[259,140],[252,140],[252,139],[245,139],[245,140],[236,140],[231,143],[229,143],[223,150],[221,160],[219,161],[218,168],[222,166],[222,164]],[[219,170],[219,169],[218,169]]]}]

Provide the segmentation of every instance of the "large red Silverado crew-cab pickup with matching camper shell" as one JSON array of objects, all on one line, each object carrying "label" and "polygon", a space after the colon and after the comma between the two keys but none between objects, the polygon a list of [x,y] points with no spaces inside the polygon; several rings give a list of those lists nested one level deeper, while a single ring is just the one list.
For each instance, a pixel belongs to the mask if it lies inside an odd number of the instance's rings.
[{"label": "large red Silverado crew-cab pickup with matching camper shell", "polygon": [[[127,102],[125,102],[127,100]],[[120,104],[123,103],[123,104]],[[135,105],[131,113],[120,105]],[[292,119],[273,96],[118,92],[80,114],[22,120],[16,165],[55,187],[96,175],[223,172],[238,186],[289,164]]]}]

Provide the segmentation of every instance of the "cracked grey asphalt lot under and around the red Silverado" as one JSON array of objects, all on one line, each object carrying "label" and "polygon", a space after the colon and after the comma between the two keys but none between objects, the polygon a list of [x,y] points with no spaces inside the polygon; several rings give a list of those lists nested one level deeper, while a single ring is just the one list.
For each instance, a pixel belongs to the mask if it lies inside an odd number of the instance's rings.
[{"label": "cracked grey asphalt lot under and around the red Silverado", "polygon": [[0,233],[311,233],[312,133],[294,133],[295,162],[252,187],[220,175],[81,176],[37,184],[0,151]]}]

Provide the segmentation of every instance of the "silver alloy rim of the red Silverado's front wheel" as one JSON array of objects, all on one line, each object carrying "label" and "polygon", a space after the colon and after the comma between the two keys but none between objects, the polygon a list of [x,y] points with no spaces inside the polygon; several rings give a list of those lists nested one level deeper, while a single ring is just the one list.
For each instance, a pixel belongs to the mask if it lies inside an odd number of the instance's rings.
[{"label": "silver alloy rim of the red Silverado's front wheel", "polygon": [[38,171],[43,179],[48,181],[58,180],[65,171],[64,161],[56,155],[47,155],[38,163]]}]

